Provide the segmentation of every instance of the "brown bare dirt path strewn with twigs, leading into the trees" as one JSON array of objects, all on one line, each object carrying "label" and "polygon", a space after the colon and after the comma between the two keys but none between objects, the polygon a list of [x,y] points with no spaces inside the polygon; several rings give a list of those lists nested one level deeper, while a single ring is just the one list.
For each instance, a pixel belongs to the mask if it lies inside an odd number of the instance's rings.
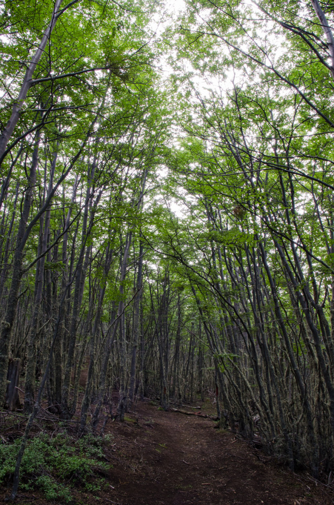
[{"label": "brown bare dirt path strewn with twigs, leading into the trees", "polygon": [[[199,405],[199,403],[198,403]],[[211,403],[201,411],[213,413]],[[331,505],[334,488],[308,474],[293,474],[231,431],[213,429],[210,418],[164,412],[139,401],[123,423],[108,421],[112,434],[105,459],[112,465],[105,486],[75,493],[76,505]],[[0,499],[5,497],[1,489]],[[46,505],[38,492],[20,505]],[[56,503],[56,502],[53,502]],[[58,502],[57,502],[58,505]]]}]

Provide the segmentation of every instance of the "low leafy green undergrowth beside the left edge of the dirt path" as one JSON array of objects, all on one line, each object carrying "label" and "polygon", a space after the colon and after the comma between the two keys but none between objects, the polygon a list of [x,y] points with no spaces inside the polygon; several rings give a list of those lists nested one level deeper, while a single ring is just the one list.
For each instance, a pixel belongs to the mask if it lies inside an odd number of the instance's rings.
[{"label": "low leafy green undergrowth beside the left edge of the dirt path", "polygon": [[[48,500],[69,503],[71,487],[82,487],[95,492],[104,479],[97,474],[105,472],[109,465],[102,463],[103,444],[109,442],[89,434],[79,440],[66,433],[52,439],[40,433],[28,440],[21,464],[20,488],[38,488]],[[10,482],[14,473],[21,440],[0,445],[0,483]],[[89,479],[91,477],[91,479]]]}]

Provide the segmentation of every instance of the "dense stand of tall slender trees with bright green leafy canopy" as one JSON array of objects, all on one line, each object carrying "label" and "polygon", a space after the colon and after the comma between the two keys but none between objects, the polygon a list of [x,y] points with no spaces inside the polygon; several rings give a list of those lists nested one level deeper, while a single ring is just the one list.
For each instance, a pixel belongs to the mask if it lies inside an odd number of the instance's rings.
[{"label": "dense stand of tall slender trees with bright green leafy canopy", "polygon": [[41,402],[83,434],[207,391],[221,427],[330,475],[334,4],[2,0],[0,25],[13,489]]}]

